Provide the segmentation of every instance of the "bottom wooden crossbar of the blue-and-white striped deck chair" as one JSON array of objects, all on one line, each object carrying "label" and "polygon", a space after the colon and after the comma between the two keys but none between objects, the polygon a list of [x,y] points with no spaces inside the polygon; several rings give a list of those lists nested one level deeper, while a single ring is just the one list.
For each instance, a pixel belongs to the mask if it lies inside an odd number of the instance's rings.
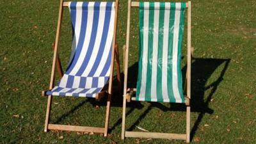
[{"label": "bottom wooden crossbar of the blue-and-white striped deck chair", "polygon": [[104,133],[104,127],[84,127],[84,126],[74,126],[74,125],[49,124],[48,129],[60,130],[60,131],[78,131],[78,132]]}]

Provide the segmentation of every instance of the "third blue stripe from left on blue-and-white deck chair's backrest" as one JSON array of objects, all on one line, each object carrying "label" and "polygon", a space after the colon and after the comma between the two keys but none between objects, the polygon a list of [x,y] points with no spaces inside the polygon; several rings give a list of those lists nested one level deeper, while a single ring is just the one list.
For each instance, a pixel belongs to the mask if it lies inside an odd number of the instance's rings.
[{"label": "third blue stripe from left on blue-and-white deck chair's backrest", "polygon": [[88,46],[88,51],[86,52],[86,56],[84,58],[83,64],[79,68],[76,76],[81,76],[87,67],[89,60],[92,56],[93,47],[95,44],[95,39],[97,36],[97,29],[98,29],[98,23],[99,23],[99,2],[95,2],[94,4],[94,12],[93,12],[93,23],[92,23],[92,34],[90,37],[90,43]]}]

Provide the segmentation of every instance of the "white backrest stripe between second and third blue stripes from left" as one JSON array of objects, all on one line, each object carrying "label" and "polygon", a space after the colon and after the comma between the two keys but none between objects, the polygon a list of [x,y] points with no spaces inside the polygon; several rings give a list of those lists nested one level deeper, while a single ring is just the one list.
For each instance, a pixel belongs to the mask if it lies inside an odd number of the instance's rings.
[{"label": "white backrest stripe between second and third blue stripes from left", "polygon": [[79,58],[78,58],[78,60],[76,62],[76,65],[72,69],[72,71],[70,72],[70,75],[73,75],[73,76],[75,76],[77,74],[79,68],[83,64],[84,58],[85,58],[86,53],[88,51],[88,45],[90,43],[89,42],[90,41],[90,36],[92,34],[93,5],[94,5],[94,2],[89,2],[88,3],[88,18],[87,18],[86,34],[85,34],[85,37],[84,37],[84,44],[83,44],[82,51],[81,51],[81,53],[79,55]]}]

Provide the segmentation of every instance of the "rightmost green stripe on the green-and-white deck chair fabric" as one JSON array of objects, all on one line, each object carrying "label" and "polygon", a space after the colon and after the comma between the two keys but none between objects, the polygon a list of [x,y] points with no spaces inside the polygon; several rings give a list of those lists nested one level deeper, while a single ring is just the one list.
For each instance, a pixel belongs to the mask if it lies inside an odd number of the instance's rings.
[{"label": "rightmost green stripe on the green-and-white deck chair fabric", "polygon": [[186,10],[186,3],[181,3],[180,10],[180,24],[179,24],[179,42],[178,42],[178,61],[177,61],[177,73],[178,73],[178,89],[180,93],[180,98],[184,102],[184,95],[182,90],[182,73],[181,73],[181,56],[182,56],[182,36],[184,32],[184,14]]}]

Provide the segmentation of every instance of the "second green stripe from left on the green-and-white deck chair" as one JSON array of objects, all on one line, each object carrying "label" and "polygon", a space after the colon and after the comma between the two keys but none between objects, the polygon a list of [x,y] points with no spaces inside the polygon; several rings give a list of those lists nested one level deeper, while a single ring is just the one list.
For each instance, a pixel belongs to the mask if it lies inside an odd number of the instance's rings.
[{"label": "second green stripe from left on the green-and-white deck chair", "polygon": [[149,3],[149,15],[148,15],[148,65],[147,65],[147,83],[145,99],[151,100],[151,75],[152,75],[152,52],[153,52],[153,38],[154,38],[154,3]]}]

